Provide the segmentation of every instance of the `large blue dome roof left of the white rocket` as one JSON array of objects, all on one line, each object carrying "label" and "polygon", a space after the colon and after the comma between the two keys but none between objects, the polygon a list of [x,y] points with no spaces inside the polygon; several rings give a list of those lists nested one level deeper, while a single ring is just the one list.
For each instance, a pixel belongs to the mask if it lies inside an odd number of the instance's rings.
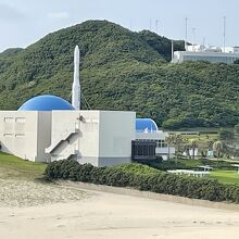
[{"label": "large blue dome roof left of the white rocket", "polygon": [[34,97],[27,100],[18,111],[53,111],[53,110],[74,110],[73,105],[66,100],[51,96],[45,95],[39,97]]}]

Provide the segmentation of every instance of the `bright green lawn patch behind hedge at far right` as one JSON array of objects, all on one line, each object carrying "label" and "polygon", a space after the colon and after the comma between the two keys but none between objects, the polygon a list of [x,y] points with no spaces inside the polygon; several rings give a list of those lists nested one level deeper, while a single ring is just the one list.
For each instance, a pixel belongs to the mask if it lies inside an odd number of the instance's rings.
[{"label": "bright green lawn patch behind hedge at far right", "polygon": [[239,174],[235,171],[213,171],[210,177],[216,178],[224,184],[237,184],[239,185]]}]

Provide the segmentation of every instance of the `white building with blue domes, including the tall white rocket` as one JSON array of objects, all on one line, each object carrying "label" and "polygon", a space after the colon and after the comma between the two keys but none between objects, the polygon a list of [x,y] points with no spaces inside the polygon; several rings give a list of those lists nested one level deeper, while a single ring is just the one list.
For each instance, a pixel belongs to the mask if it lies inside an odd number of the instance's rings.
[{"label": "white building with blue domes, including the tall white rocket", "polygon": [[[0,111],[1,151],[34,162],[74,159],[95,166],[130,163],[137,140],[146,142],[137,148],[140,158],[153,159],[155,152],[164,152],[165,147],[159,147],[159,142],[165,140],[165,134],[152,120],[136,121],[135,112],[79,110],[78,47],[74,55],[72,104],[47,95],[29,99],[18,111]],[[143,134],[137,131],[139,128]],[[148,128],[150,134],[146,134]],[[150,152],[143,150],[146,147]]]}]

